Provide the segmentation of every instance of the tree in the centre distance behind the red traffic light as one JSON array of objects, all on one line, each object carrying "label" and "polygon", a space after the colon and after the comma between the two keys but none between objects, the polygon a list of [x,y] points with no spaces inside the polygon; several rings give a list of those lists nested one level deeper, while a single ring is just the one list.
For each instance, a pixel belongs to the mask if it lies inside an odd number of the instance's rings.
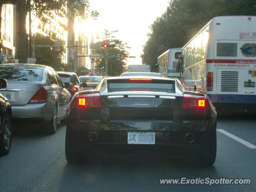
[{"label": "tree in the centre distance behind the red traffic light", "polygon": [[[99,41],[101,46],[100,50],[93,50],[94,54],[100,54],[102,57],[100,59],[95,59],[95,68],[105,72],[105,48],[103,48],[103,44],[106,42],[105,40]],[[117,54],[123,54],[123,55],[128,55],[127,49],[130,48],[127,46],[126,43],[122,42],[121,40],[118,39],[110,39],[108,40],[108,48],[107,53],[108,56],[116,56]],[[114,47],[111,47],[111,45],[114,44]],[[108,59],[108,75],[109,76],[119,76],[123,72],[126,71],[126,62],[124,60],[116,60],[116,58],[110,58]]]}]

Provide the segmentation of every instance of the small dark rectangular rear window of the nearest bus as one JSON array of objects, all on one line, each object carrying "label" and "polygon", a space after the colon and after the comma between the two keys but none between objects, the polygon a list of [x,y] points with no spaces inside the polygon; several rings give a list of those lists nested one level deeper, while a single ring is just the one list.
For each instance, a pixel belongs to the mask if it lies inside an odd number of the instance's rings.
[{"label": "small dark rectangular rear window of the nearest bus", "polygon": [[217,57],[237,57],[237,43],[217,43]]}]

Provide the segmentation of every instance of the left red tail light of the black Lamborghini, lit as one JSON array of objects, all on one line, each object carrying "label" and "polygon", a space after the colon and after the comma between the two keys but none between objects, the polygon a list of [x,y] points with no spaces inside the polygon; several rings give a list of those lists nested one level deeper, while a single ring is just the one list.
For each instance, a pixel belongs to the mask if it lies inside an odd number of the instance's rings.
[{"label": "left red tail light of the black Lamborghini, lit", "polygon": [[86,94],[78,96],[78,106],[84,108],[99,108],[100,94]]}]

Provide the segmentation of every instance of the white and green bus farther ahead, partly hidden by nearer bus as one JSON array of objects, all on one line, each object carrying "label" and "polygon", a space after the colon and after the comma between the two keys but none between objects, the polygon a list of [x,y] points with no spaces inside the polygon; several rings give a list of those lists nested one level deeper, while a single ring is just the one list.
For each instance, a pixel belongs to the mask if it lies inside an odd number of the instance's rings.
[{"label": "white and green bus farther ahead, partly hidden by nearer bus", "polygon": [[157,58],[158,73],[164,77],[179,78],[180,73],[176,72],[178,58],[182,48],[171,48]]}]

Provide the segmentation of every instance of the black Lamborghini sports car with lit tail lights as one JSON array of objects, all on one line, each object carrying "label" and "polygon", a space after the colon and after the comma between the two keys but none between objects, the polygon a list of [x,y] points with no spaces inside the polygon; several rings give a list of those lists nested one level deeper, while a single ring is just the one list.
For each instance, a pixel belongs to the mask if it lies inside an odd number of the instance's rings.
[{"label": "black Lamborghini sports car with lit tail lights", "polygon": [[104,78],[67,108],[66,159],[95,156],[216,158],[216,110],[174,78]]}]

